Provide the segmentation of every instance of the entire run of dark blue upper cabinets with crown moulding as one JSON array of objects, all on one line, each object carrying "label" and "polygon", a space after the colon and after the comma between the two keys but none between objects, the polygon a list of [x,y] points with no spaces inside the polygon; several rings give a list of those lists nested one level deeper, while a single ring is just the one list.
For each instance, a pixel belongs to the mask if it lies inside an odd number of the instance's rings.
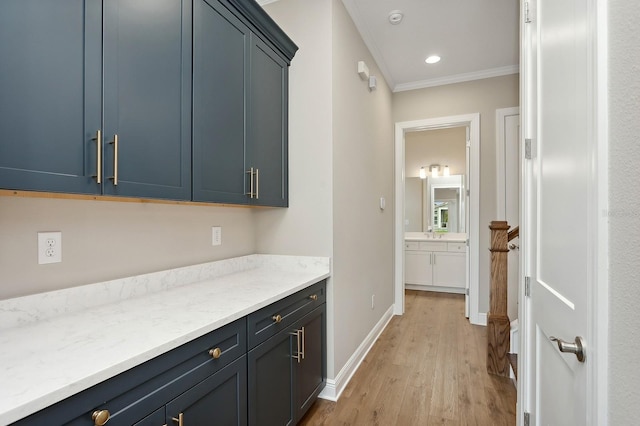
[{"label": "entire run of dark blue upper cabinets with crown moulding", "polygon": [[297,46],[247,0],[0,0],[0,188],[287,206]]}]

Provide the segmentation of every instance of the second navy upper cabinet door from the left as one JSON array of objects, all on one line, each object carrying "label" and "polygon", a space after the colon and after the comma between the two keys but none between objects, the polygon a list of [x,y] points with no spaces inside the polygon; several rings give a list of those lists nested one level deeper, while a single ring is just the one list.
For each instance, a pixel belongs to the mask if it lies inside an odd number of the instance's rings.
[{"label": "second navy upper cabinet door from the left", "polygon": [[191,198],[191,19],[188,0],[104,2],[105,194]]}]

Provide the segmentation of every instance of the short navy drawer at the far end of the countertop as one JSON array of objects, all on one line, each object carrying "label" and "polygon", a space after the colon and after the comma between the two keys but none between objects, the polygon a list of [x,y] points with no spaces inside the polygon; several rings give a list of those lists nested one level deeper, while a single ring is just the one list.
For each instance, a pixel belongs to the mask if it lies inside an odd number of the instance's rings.
[{"label": "short navy drawer at the far end of the countertop", "polygon": [[[284,330],[326,301],[326,280],[249,314],[247,333],[249,349]],[[279,316],[279,321],[276,320]]]}]

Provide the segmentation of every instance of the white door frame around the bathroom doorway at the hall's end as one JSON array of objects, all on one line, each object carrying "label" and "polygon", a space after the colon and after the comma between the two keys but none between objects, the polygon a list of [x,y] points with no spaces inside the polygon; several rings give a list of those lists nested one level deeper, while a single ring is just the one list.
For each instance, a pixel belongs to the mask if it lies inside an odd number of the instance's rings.
[{"label": "white door frame around the bathroom doorway at the hall's end", "polygon": [[394,306],[393,313],[404,313],[404,155],[405,134],[418,130],[433,130],[451,127],[469,128],[469,280],[470,311],[469,321],[472,324],[486,325],[480,319],[479,303],[479,226],[480,226],[480,113],[454,115],[448,117],[426,118],[415,121],[402,121],[395,125],[395,229],[394,229]]}]

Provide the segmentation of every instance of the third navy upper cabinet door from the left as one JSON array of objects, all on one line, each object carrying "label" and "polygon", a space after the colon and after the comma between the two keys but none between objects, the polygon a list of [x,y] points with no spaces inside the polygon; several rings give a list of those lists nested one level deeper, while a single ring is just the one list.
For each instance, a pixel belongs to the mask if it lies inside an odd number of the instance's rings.
[{"label": "third navy upper cabinet door from the left", "polygon": [[246,204],[249,29],[216,1],[193,18],[193,199]]}]

